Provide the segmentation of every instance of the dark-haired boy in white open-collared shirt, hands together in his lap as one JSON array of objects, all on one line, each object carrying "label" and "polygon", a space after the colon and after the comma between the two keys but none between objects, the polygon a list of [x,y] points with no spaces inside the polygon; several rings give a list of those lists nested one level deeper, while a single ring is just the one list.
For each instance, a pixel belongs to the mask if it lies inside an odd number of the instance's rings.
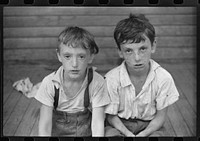
[{"label": "dark-haired boy in white open-collared shirt, hands together in his lap", "polygon": [[105,75],[111,97],[105,135],[166,136],[167,108],[179,93],[170,73],[151,59],[154,27],[144,15],[131,14],[117,24],[114,38],[124,61]]}]

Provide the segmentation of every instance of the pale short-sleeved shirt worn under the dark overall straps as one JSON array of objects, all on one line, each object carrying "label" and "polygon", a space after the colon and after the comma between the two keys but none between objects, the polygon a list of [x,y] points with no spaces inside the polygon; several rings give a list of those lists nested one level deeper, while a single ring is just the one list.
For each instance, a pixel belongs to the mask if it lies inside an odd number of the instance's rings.
[{"label": "pale short-sleeved shirt worn under the dark overall straps", "polygon": [[[87,70],[88,72],[88,70]],[[76,113],[84,110],[84,93],[87,87],[86,75],[83,84],[77,94],[69,98],[64,92],[63,81],[63,67],[61,66],[56,72],[47,75],[38,89],[35,99],[44,105],[53,107],[55,88],[59,89],[58,111],[64,111],[68,113]],[[89,85],[89,109],[105,106],[110,103],[110,97],[106,89],[106,83],[104,78],[93,69],[93,79]]]}]

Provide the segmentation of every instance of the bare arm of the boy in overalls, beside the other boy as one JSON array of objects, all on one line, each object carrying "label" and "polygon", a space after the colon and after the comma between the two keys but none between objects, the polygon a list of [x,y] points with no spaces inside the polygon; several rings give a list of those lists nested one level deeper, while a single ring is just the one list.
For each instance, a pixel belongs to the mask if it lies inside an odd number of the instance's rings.
[{"label": "bare arm of the boy in overalls, beside the other boy", "polygon": [[93,108],[92,110],[92,136],[104,136],[104,107]]}]

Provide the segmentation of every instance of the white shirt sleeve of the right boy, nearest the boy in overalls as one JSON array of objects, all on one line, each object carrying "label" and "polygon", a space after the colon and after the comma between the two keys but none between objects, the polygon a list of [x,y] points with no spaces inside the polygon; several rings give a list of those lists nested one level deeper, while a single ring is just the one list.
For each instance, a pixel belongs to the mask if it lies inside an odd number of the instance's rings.
[{"label": "white shirt sleeve of the right boy, nearest the boy in overalls", "polygon": [[110,96],[111,102],[105,108],[105,113],[117,115],[119,109],[119,94],[117,92],[117,83],[111,78],[106,78],[106,88]]}]

